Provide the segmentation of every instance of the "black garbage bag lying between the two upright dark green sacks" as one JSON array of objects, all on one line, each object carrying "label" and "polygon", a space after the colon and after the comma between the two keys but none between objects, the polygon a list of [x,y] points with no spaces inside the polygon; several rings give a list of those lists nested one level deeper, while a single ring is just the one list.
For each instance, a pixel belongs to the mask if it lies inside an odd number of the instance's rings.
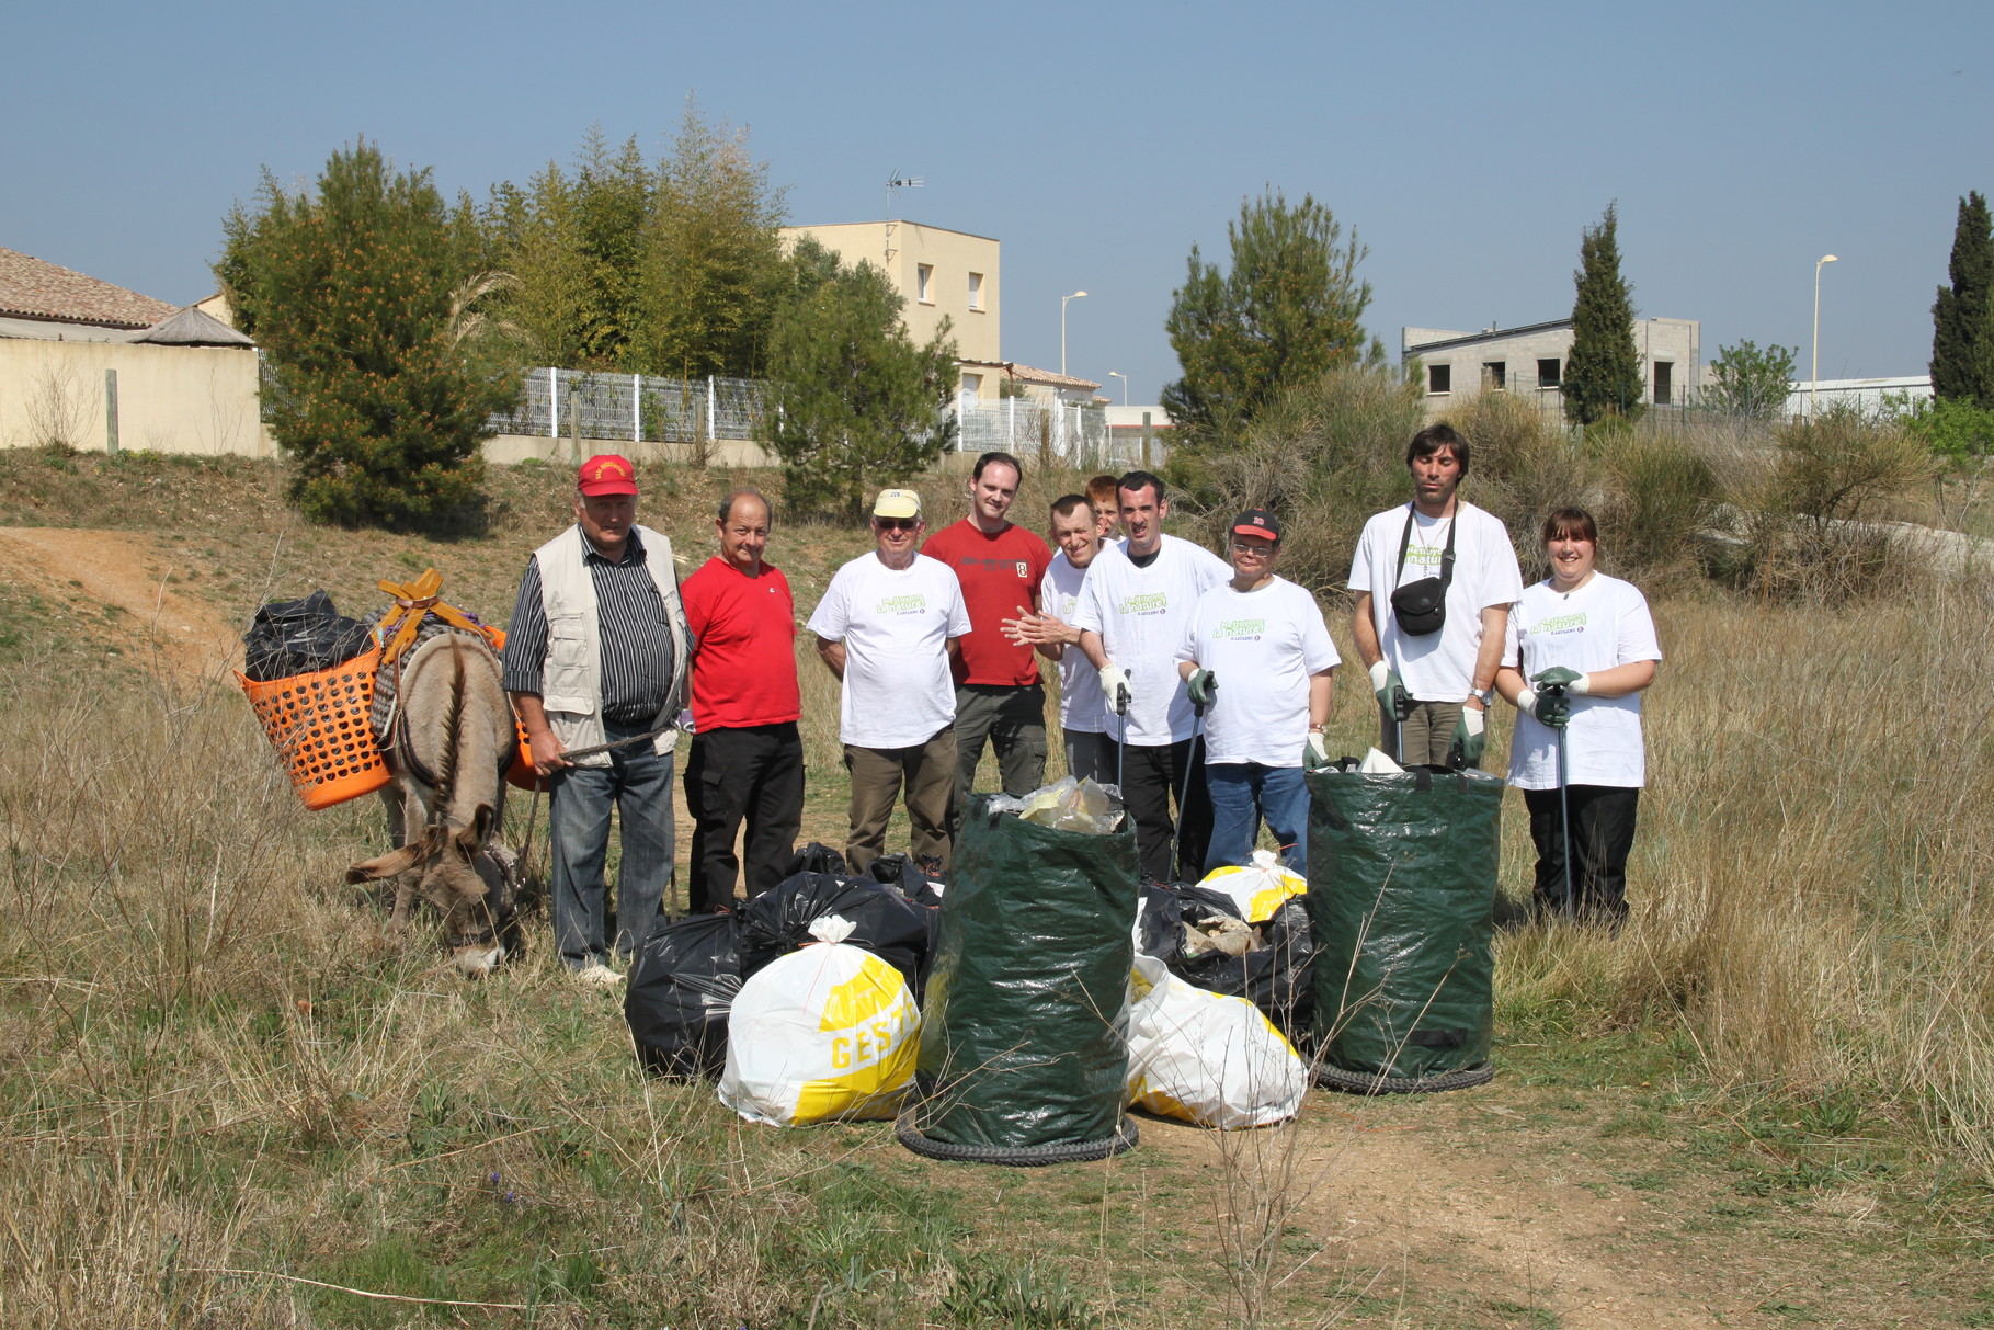
[{"label": "black garbage bag lying between the two upright dark green sacks", "polygon": [[1268,919],[1254,923],[1256,945],[1246,955],[1184,955],[1184,923],[1214,915],[1236,919],[1238,905],[1208,887],[1143,883],[1137,949],[1168,965],[1184,983],[1248,999],[1290,1039],[1306,1037],[1316,1009],[1316,947],[1302,899],[1284,901]]}]

